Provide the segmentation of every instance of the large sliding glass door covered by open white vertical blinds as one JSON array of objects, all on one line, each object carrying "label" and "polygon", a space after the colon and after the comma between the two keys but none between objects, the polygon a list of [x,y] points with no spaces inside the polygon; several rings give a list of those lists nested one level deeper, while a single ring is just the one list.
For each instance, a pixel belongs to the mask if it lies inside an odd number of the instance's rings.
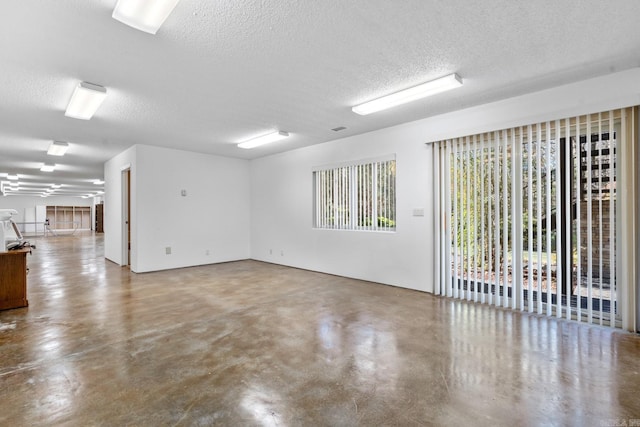
[{"label": "large sliding glass door covered by open white vertical blinds", "polygon": [[437,292],[623,326],[633,117],[615,110],[434,143]]}]

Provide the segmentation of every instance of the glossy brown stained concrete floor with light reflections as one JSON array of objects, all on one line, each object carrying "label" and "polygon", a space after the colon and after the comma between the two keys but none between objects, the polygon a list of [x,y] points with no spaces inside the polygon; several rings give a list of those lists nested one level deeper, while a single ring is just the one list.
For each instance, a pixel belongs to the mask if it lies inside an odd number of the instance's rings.
[{"label": "glossy brown stained concrete floor with light reflections", "polygon": [[[32,239],[33,240],[33,239]],[[132,274],[34,240],[0,425],[640,424],[640,337],[241,261]]]}]

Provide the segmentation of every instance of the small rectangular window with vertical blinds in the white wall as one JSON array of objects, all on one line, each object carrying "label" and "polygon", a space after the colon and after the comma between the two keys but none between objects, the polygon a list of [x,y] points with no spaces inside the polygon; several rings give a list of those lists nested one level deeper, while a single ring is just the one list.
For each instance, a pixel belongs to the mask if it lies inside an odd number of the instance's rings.
[{"label": "small rectangular window with vertical blinds in the white wall", "polygon": [[314,227],[394,231],[395,156],[313,172]]}]

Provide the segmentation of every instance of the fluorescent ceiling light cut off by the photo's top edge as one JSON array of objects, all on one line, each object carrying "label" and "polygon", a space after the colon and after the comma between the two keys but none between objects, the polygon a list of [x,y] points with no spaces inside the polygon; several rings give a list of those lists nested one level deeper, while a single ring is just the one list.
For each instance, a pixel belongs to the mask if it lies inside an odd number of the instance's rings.
[{"label": "fluorescent ceiling light cut off by the photo's top edge", "polygon": [[111,15],[136,30],[155,34],[180,0],[118,0]]}]

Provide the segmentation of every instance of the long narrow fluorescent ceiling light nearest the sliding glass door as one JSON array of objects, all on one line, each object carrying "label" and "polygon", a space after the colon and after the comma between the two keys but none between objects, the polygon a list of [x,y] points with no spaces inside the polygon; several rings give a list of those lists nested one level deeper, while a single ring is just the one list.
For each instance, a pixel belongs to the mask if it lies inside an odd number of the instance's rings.
[{"label": "long narrow fluorescent ceiling light nearest the sliding glass door", "polygon": [[435,95],[436,93],[455,89],[460,86],[462,86],[462,79],[460,76],[457,74],[449,74],[448,76],[431,80],[430,82],[423,83],[400,92],[392,93],[391,95],[383,96],[382,98],[374,99],[373,101],[365,102],[364,104],[356,105],[351,110],[354,113],[364,116],[386,110],[387,108],[395,107],[397,105],[406,104],[407,102],[426,98],[427,96]]}]

